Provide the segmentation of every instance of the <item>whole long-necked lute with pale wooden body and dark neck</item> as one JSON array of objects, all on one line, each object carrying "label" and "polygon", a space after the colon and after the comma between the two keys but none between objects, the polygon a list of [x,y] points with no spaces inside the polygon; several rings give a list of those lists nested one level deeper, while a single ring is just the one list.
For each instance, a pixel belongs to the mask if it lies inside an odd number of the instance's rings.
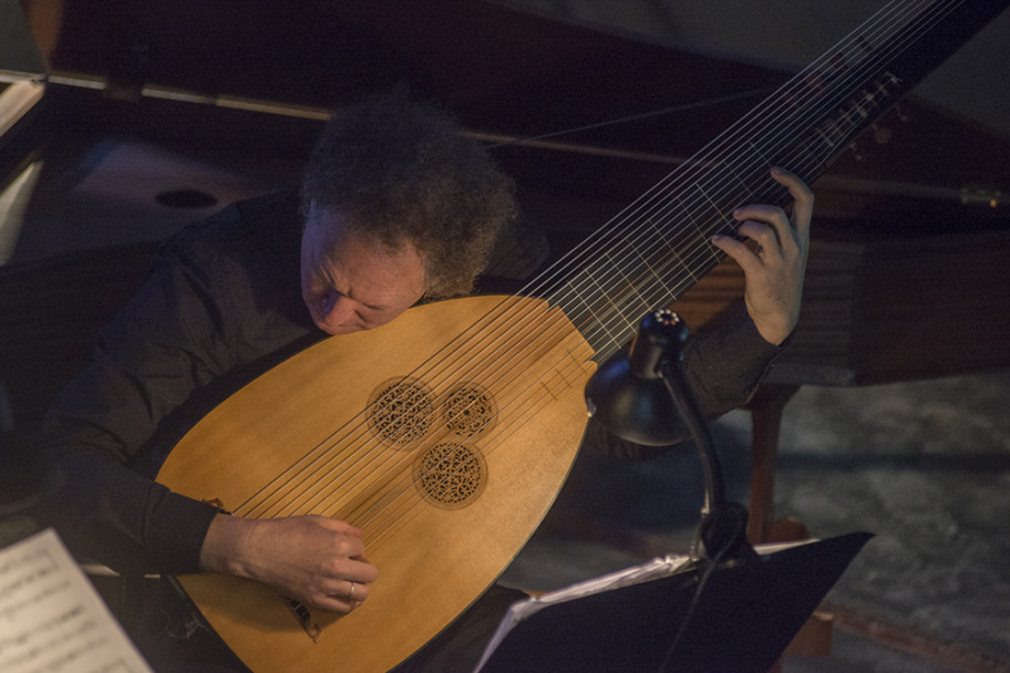
[{"label": "whole long-necked lute with pale wooden body and dark neck", "polygon": [[257,673],[379,673],[505,569],[575,457],[583,391],[645,312],[722,259],[732,210],[785,205],[1007,6],[898,0],[797,74],[535,280],[521,298],[418,307],[326,340],[204,418],[158,480],[236,515],[321,514],[364,530],[380,579],[350,615],[228,577],[179,578]]}]

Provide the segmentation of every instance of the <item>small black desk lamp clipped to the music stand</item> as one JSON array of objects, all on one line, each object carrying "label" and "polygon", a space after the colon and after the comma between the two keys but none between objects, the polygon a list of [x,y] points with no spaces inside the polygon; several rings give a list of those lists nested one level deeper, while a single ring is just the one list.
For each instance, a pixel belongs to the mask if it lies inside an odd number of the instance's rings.
[{"label": "small black desk lamp clipped to the music stand", "polygon": [[687,323],[673,311],[647,314],[628,353],[608,360],[586,384],[589,413],[619,437],[661,446],[683,438],[684,425],[704,470],[699,537],[709,559],[754,556],[746,541],[746,509],[725,498],[725,484],[709,425],[683,374]]}]

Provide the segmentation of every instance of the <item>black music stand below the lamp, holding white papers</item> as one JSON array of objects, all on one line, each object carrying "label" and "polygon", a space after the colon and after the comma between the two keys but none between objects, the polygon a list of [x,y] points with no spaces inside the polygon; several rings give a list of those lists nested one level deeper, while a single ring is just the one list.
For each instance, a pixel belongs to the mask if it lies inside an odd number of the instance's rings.
[{"label": "black music stand below the lamp, holding white papers", "polygon": [[870,537],[723,561],[700,592],[707,560],[547,605],[517,622],[480,673],[766,673]]}]

